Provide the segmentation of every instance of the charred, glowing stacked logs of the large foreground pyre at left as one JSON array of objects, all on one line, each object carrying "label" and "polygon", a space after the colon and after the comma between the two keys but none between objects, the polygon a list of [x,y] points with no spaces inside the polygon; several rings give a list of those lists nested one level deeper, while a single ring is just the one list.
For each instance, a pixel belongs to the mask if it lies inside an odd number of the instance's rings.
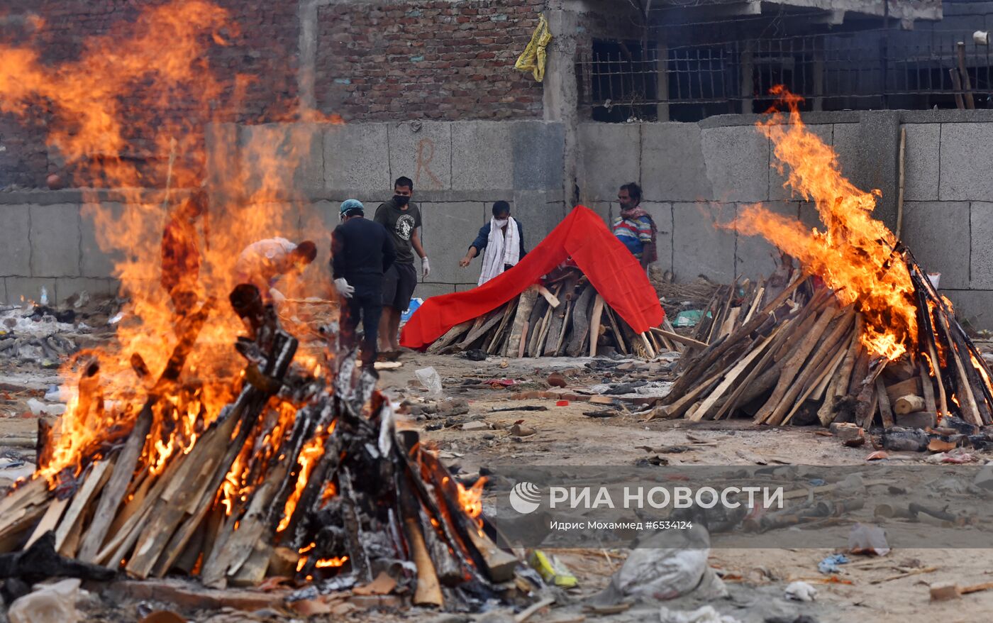
[{"label": "charred, glowing stacked logs of the large foreground pyre at left", "polygon": [[[432,605],[495,594],[512,579],[517,559],[491,541],[481,491],[463,490],[416,433],[396,430],[355,353],[331,361],[330,379],[291,367],[296,339],[271,307],[250,308],[239,311],[251,326],[237,345],[248,360],[243,387],[195,443],[164,465],[149,459],[208,306],[190,316],[137,416],[54,475],[44,469],[54,440],[43,435],[42,469],[0,501],[0,551],[54,533],[64,556],[215,587],[296,574],[334,576],[342,588],[388,571],[415,603]],[[82,377],[77,408],[99,408],[98,366]]]}]

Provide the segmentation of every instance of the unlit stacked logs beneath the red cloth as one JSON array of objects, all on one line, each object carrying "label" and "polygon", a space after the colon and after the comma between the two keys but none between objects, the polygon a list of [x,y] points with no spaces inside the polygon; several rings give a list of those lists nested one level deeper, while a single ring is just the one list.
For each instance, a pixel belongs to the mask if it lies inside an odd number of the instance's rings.
[{"label": "unlit stacked logs beneath the red cloth", "polygon": [[[596,357],[605,350],[652,359],[679,350],[666,328],[636,333],[575,268],[550,275],[542,285],[479,318],[456,325],[428,347],[441,355],[483,351],[501,357]],[[683,339],[683,342],[686,340]]]}]

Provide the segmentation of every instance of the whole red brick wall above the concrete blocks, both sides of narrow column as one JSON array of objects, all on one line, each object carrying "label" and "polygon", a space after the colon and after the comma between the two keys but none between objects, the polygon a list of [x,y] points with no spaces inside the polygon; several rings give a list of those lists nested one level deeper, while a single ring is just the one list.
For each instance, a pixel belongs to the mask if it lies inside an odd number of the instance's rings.
[{"label": "whole red brick wall above the concrete blocks, both sides of narrow column", "polygon": [[[212,112],[176,97],[161,111],[191,128],[203,123],[286,120],[296,109],[300,53],[298,0],[213,0],[232,28],[211,45],[208,62],[223,85]],[[71,63],[88,37],[134,21],[165,0],[8,0],[0,8],[0,41],[30,42],[44,62]],[[346,120],[540,118],[542,88],[513,70],[545,0],[424,0],[333,2],[318,13],[315,91],[318,107]],[[240,78],[237,78],[239,77]],[[136,87],[138,90],[138,87]],[[196,93],[191,94],[196,97]],[[122,93],[126,111],[147,106]],[[84,179],[47,147],[51,121],[45,101],[31,122],[0,115],[0,189],[102,186]],[[204,118],[201,118],[204,117]],[[155,127],[128,125],[125,157],[141,166],[161,158],[151,149]],[[196,151],[196,150],[194,150]],[[155,167],[147,167],[149,171]],[[161,167],[158,167],[161,169]],[[198,167],[193,167],[196,170]],[[149,174],[142,186],[160,186]]]}]

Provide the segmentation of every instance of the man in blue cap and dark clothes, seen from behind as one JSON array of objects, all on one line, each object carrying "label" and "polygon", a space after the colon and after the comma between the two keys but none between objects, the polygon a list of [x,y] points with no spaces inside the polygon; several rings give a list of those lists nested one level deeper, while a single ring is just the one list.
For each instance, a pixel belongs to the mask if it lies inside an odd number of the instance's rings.
[{"label": "man in blue cap and dark clothes, seen from behind", "polygon": [[382,316],[383,273],[396,259],[396,247],[386,228],[365,218],[361,202],[343,202],[341,219],[331,236],[331,267],[342,297],[342,342],[355,348],[360,319],[362,367],[371,372]]}]

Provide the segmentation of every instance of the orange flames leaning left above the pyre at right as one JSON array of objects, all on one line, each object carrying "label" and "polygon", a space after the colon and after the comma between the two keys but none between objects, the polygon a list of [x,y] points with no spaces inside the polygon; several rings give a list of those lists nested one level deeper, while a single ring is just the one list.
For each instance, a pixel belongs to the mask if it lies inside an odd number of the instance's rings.
[{"label": "orange flames leaning left above the pyre at right", "polygon": [[844,304],[855,303],[865,319],[861,340],[873,355],[894,360],[917,341],[917,307],[907,264],[894,249],[897,237],[872,218],[878,190],[866,193],[842,176],[834,151],[806,129],[801,98],[782,86],[773,89],[789,109],[757,126],[773,142],[783,187],[816,204],[823,231],[807,231],[795,219],[761,205],[749,206],[735,221],[743,234],[761,234],[819,275]]}]

